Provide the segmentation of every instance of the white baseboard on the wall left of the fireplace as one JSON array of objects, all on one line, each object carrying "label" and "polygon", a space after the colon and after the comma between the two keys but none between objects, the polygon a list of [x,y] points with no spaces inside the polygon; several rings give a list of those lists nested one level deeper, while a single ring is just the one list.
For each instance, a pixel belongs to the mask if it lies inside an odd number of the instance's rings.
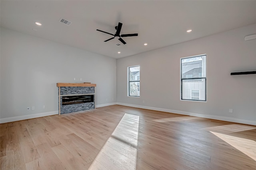
[{"label": "white baseboard on the wall left of the fireplace", "polygon": [[58,111],[53,111],[53,112],[45,112],[45,113],[38,113],[38,114],[29,114],[29,115],[24,115],[24,116],[16,116],[12,118],[3,118],[0,119],[0,123],[6,123],[6,122],[14,122],[18,120],[26,120],[26,119],[32,119],[32,118],[39,118],[39,117],[44,117],[44,116],[51,116],[59,114]]}]

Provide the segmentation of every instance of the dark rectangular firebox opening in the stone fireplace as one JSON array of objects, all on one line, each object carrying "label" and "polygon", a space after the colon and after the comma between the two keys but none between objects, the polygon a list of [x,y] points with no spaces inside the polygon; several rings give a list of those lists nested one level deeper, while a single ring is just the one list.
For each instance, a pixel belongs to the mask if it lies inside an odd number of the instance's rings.
[{"label": "dark rectangular firebox opening in the stone fireplace", "polygon": [[63,96],[62,105],[94,102],[94,95]]}]

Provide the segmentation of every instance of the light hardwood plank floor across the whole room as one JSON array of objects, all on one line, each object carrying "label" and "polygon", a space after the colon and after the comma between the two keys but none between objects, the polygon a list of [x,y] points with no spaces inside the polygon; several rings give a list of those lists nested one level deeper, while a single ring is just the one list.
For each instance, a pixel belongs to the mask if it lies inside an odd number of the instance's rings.
[{"label": "light hardwood plank floor across the whole room", "polygon": [[1,170],[256,170],[256,126],[126,106],[0,124]]}]

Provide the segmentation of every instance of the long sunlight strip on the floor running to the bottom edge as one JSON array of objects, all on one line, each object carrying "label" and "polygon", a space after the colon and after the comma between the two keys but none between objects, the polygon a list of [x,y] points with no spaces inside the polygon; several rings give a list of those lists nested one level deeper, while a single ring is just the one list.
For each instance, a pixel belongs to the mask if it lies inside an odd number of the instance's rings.
[{"label": "long sunlight strip on the floor running to the bottom edge", "polygon": [[136,170],[139,119],[124,114],[88,170]]}]

